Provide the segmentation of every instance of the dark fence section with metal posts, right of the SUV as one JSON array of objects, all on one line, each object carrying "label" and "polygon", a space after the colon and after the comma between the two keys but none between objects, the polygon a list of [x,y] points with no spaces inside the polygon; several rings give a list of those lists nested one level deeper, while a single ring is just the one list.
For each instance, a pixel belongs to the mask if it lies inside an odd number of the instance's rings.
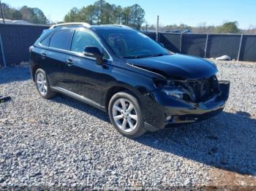
[{"label": "dark fence section with metal posts, right of the SUV", "polygon": [[[156,39],[155,33],[145,33]],[[168,50],[202,58],[229,55],[238,61],[256,61],[256,35],[159,33],[158,42]]]}]

